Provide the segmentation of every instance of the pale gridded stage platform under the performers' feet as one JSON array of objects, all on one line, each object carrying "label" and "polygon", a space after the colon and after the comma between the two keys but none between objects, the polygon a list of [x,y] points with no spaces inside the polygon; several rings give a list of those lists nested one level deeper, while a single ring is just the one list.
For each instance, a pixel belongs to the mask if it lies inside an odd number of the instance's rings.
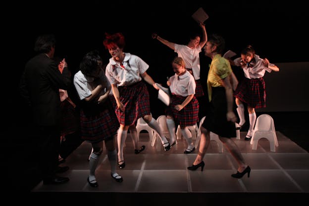
[{"label": "pale gridded stage platform under the performers' feet", "polygon": [[180,140],[170,151],[165,152],[159,142],[151,147],[148,134],[142,133],[140,145],[146,149],[134,154],[129,137],[124,149],[126,167],[117,172],[122,175],[122,183],[110,177],[110,168],[106,151],[100,159],[96,171],[98,188],[87,183],[91,152],[90,143],[84,142],[62,165],[70,167],[64,176],[70,181],[63,185],[43,185],[39,183],[36,192],[102,192],[102,193],[308,193],[309,192],[309,153],[276,132],[279,147],[270,152],[266,139],[258,142],[257,150],[252,150],[250,141],[245,141],[245,132],[241,139],[233,140],[240,148],[251,167],[250,178],[231,177],[237,170],[237,164],[227,152],[218,153],[217,145],[211,142],[204,158],[204,171],[189,171],[198,150],[193,154],[183,154],[185,140]]}]

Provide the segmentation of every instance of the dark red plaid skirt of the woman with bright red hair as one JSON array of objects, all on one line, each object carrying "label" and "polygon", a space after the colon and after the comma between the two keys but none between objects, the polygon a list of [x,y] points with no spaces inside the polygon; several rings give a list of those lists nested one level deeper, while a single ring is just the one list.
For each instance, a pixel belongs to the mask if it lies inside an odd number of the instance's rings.
[{"label": "dark red plaid skirt of the woman with bright red hair", "polygon": [[125,106],[125,110],[115,109],[118,121],[121,125],[132,125],[135,122],[150,114],[150,100],[147,86],[143,81],[139,81],[130,86],[118,87],[120,101]]}]

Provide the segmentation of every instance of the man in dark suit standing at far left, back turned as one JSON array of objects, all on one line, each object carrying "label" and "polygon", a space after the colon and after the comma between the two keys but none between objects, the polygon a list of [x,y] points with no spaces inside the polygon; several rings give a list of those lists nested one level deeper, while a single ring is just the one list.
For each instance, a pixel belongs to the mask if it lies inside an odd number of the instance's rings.
[{"label": "man in dark suit standing at far left, back turned", "polygon": [[70,72],[65,59],[58,65],[52,60],[55,50],[53,35],[39,36],[34,50],[38,54],[30,59],[20,81],[21,96],[30,106],[32,129],[29,136],[36,138],[37,159],[43,184],[61,184],[67,177],[56,175],[68,167],[58,166],[60,147],[60,97],[59,89],[68,90],[71,85]]}]

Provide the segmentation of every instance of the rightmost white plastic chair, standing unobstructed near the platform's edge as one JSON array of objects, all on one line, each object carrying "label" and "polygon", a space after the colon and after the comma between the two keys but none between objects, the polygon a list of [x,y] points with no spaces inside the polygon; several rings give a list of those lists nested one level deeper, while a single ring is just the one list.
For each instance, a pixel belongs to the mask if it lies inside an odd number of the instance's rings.
[{"label": "rightmost white plastic chair, standing unobstructed near the platform's edge", "polygon": [[268,114],[261,114],[257,117],[256,126],[250,141],[252,150],[257,150],[258,140],[266,138],[270,144],[270,151],[275,152],[278,147],[278,139],[276,135],[273,118]]}]

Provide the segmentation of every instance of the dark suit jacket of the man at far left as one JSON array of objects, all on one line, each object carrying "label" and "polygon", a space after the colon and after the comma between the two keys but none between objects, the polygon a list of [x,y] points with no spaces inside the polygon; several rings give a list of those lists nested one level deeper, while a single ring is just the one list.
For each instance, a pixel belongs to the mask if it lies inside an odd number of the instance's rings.
[{"label": "dark suit jacket of the man at far left", "polygon": [[54,126],[60,123],[59,89],[68,90],[70,85],[68,68],[61,74],[56,62],[44,53],[26,63],[20,92],[32,109],[35,124]]}]

